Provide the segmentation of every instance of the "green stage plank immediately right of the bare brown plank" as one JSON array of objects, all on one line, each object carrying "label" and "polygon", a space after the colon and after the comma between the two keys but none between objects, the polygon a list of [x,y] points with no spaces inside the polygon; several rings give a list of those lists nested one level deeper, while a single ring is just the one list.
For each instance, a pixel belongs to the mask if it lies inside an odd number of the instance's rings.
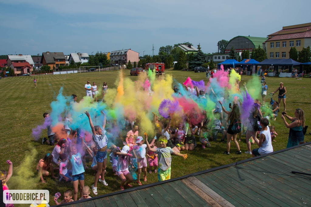
[{"label": "green stage plank immediately right of the bare brown plank", "polygon": [[[198,180],[203,182],[205,185],[208,185],[212,190],[214,190],[216,193],[221,195],[223,198],[228,200],[232,205],[235,206],[248,206],[250,203],[253,205],[258,206],[256,202],[248,198],[247,196],[244,196],[239,191],[232,191],[231,188],[228,187],[228,184],[224,181],[216,178],[211,173],[205,173],[201,175],[195,176]],[[213,186],[213,187],[212,187]]]}]

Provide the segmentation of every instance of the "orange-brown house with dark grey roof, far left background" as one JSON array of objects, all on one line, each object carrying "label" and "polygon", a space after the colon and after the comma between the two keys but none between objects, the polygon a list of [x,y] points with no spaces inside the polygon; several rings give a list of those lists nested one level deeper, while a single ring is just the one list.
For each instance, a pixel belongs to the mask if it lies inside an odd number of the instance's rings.
[{"label": "orange-brown house with dark grey roof, far left background", "polygon": [[41,58],[42,65],[49,65],[51,69],[66,65],[66,57],[63,52],[43,52]]}]

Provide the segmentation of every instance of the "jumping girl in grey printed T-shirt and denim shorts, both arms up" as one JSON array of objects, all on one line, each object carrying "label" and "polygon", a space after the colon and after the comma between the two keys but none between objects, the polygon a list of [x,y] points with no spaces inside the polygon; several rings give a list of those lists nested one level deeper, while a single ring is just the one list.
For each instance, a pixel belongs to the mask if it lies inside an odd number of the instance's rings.
[{"label": "jumping girl in grey printed T-shirt and denim shorts, both arms up", "polygon": [[[92,185],[92,191],[95,195],[97,195],[97,182],[100,181],[105,186],[108,186],[107,182],[104,179],[105,175],[105,169],[106,169],[106,163],[107,163],[107,136],[106,136],[106,115],[104,111],[101,111],[104,115],[103,125],[100,127],[99,125],[94,126],[91,115],[89,112],[85,112],[86,116],[89,118],[90,126],[93,133],[93,140],[97,146],[98,152],[95,155],[96,161],[97,161],[97,173],[95,175],[95,181]],[[99,178],[101,176],[101,178]]]}]

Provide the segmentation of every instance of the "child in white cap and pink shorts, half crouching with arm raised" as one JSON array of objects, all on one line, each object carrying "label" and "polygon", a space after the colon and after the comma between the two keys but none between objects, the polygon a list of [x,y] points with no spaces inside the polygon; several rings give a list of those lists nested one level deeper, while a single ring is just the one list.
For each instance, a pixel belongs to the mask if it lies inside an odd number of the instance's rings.
[{"label": "child in white cap and pink shorts, half crouching with arm raised", "polygon": [[[121,151],[114,151],[114,155],[118,155],[118,164],[116,168],[116,173],[121,179],[121,190],[124,190],[124,186],[133,187],[129,185],[133,181],[131,173],[128,171],[128,163],[130,162],[130,157],[132,154],[129,154],[130,147],[125,145]],[[128,180],[126,180],[128,178]]]}]

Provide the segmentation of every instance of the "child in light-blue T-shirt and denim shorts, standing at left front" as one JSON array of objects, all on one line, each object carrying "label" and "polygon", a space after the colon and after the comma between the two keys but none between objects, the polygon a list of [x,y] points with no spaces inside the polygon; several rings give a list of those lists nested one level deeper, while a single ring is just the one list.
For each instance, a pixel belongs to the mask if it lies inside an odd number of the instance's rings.
[{"label": "child in light-blue T-shirt and denim shorts, standing at left front", "polygon": [[81,154],[77,150],[77,146],[69,145],[69,160],[72,164],[72,185],[73,185],[73,200],[78,199],[78,184],[80,183],[80,196],[82,196],[82,188],[84,187],[84,167],[82,164]]}]

